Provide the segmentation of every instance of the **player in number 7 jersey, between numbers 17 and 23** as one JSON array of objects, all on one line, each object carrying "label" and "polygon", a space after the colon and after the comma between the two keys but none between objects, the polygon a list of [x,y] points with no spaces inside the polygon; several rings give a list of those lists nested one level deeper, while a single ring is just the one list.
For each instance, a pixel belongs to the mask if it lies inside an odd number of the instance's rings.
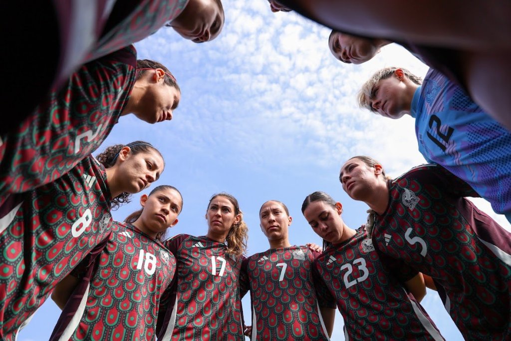
[{"label": "player in number 7 jersey, between numbers 17 and 23", "polygon": [[[312,264],[320,255],[291,245],[292,217],[280,201],[266,201],[259,211],[270,248],[243,261],[241,295],[250,291],[251,340],[329,340],[335,303],[316,294]],[[324,322],[323,322],[324,321]]]}]

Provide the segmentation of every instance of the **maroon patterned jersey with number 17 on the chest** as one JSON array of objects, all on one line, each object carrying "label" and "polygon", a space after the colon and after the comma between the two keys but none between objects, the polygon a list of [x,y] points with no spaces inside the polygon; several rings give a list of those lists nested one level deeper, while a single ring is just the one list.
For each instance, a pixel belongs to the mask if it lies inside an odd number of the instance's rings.
[{"label": "maroon patterned jersey with number 17 on the chest", "polygon": [[243,340],[242,257],[205,236],[177,235],[164,245],[176,257],[177,270],[160,303],[158,340]]}]

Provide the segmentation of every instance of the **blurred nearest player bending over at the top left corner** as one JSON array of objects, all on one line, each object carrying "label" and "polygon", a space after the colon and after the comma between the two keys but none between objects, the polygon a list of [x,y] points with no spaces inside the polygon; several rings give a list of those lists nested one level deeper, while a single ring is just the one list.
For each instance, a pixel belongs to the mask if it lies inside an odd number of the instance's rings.
[{"label": "blurred nearest player bending over at the top left corner", "polygon": [[[22,122],[50,89],[58,91],[84,63],[140,41],[164,25],[187,39],[203,42],[217,37],[224,22],[220,0],[42,0],[31,6],[2,3],[2,13],[10,13],[2,21],[1,32],[11,51],[3,64],[16,60],[30,67],[5,70],[11,81],[2,92],[2,102],[15,108],[15,115],[10,119],[14,123],[0,126],[0,135]],[[21,21],[24,25],[19,26]],[[19,27],[12,34],[10,28],[15,26]]]}]

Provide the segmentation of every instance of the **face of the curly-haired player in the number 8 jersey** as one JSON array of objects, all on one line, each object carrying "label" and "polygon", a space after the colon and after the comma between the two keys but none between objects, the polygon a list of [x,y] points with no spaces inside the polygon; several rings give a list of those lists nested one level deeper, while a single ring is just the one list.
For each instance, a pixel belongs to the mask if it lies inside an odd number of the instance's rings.
[{"label": "face of the curly-haired player in the number 8 jersey", "polygon": [[156,181],[164,169],[164,161],[160,154],[151,150],[133,154],[119,154],[120,164],[114,173],[115,184],[119,184],[121,192],[138,193]]}]

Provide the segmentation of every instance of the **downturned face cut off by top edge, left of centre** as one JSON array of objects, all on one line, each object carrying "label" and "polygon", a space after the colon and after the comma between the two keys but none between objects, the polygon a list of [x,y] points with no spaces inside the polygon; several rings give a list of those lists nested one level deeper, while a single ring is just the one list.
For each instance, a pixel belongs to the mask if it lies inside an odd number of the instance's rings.
[{"label": "downturned face cut off by top edge, left of centre", "polygon": [[215,39],[223,24],[224,14],[214,0],[190,0],[169,26],[185,39],[205,42]]}]

